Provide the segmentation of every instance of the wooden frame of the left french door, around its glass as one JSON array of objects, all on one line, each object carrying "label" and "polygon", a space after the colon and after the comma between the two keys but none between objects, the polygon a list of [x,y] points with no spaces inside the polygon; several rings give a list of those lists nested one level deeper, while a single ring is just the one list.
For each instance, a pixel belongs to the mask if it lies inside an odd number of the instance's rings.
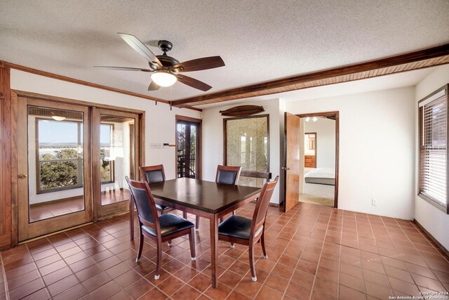
[{"label": "wooden frame of the left french door, around its glass", "polygon": [[[91,125],[91,114],[89,112],[88,107],[82,106],[82,105],[76,105],[72,103],[56,103],[53,101],[43,100],[43,99],[33,99],[33,98],[27,98],[26,96],[20,97],[22,98],[22,101],[26,101],[26,103],[23,103],[19,100],[19,97],[16,93],[13,93],[13,119],[12,119],[12,133],[13,133],[13,151],[12,151],[12,170],[13,174],[11,176],[11,186],[14,189],[13,197],[11,197],[11,202],[13,205],[13,228],[15,228],[15,232],[12,232],[12,240],[13,244],[17,244],[19,239],[22,238],[22,240],[28,240],[29,238],[34,238],[39,235],[45,235],[49,232],[57,232],[59,230],[64,230],[66,228],[70,228],[73,226],[79,226],[82,223],[80,222],[81,219],[83,221],[86,221],[87,223],[92,220],[93,211],[92,211],[92,193],[91,193],[91,161],[90,161],[90,155],[91,155],[91,143],[90,141],[90,125]],[[83,155],[83,199],[84,199],[84,209],[81,211],[76,211],[74,213],[70,214],[63,214],[61,216],[55,216],[53,218],[48,219],[42,219],[39,222],[39,228],[29,227],[31,224],[29,222],[29,195],[28,195],[28,189],[20,189],[19,184],[19,176],[18,174],[23,171],[26,167],[27,171],[26,174],[29,174],[28,169],[28,159],[20,159],[20,153],[18,149],[23,149],[22,151],[28,152],[28,141],[26,142],[26,145],[22,145],[23,141],[22,138],[27,138],[27,132],[28,132],[28,122],[25,122],[26,124],[20,124],[22,123],[23,119],[20,119],[20,117],[27,118],[27,105],[29,105],[29,100],[32,100],[33,103],[31,105],[40,106],[40,107],[48,107],[51,105],[51,107],[55,107],[59,110],[75,110],[79,112],[83,112],[83,119],[84,124],[86,125],[86,131],[83,131],[83,151],[86,153],[86,155]],[[20,171],[21,169],[21,171]],[[27,185],[29,185],[28,179],[27,179]],[[27,198],[27,205],[23,207],[24,203],[19,202],[19,199]],[[20,219],[27,221],[27,226],[22,226],[20,223]],[[52,226],[55,225],[55,223],[60,222],[60,228],[53,230],[54,228]],[[83,222],[83,223],[86,223]],[[32,222],[34,223],[34,222]],[[62,225],[63,224],[63,225]],[[52,228],[52,229],[50,229]],[[48,232],[49,231],[49,232]]]}]

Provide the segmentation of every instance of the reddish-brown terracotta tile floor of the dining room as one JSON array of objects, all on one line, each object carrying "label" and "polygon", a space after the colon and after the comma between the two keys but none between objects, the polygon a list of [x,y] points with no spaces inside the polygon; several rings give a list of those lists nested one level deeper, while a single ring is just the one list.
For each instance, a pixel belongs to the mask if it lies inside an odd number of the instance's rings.
[{"label": "reddish-brown terracotta tile floor of the dining room", "polygon": [[286,214],[270,207],[268,259],[258,247],[257,282],[247,248],[220,242],[217,289],[210,287],[208,236],[201,220],[194,262],[185,237],[164,244],[157,281],[154,244],[145,243],[135,263],[138,240],[129,240],[127,216],[22,244],[0,253],[0,299],[370,300],[449,290],[448,256],[410,221],[308,203]]}]

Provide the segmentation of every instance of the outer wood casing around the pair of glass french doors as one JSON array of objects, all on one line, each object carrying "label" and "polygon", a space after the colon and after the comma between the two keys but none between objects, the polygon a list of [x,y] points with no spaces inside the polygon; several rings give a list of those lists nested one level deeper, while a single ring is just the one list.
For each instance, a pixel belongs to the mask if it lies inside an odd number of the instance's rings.
[{"label": "outer wood casing around the pair of glass french doors", "polygon": [[[140,165],[145,164],[145,111],[144,110],[135,110],[133,108],[126,107],[118,107],[114,105],[107,105],[101,103],[93,103],[83,100],[75,100],[71,98],[63,98],[58,96],[49,96],[41,93],[32,93],[29,91],[20,91],[11,89],[11,247],[15,247],[19,244],[18,242],[18,98],[33,98],[38,100],[46,100],[55,103],[69,103],[76,104],[86,107],[98,107],[105,108],[108,110],[116,110],[116,111],[125,111],[132,112],[140,115],[139,118],[139,132],[140,132],[140,145],[136,145],[136,150],[140,153]],[[89,138],[89,143],[91,143],[91,138]],[[137,161],[136,161],[137,162]],[[136,171],[137,172],[137,171]],[[140,172],[137,172],[137,175],[140,176]]]}]

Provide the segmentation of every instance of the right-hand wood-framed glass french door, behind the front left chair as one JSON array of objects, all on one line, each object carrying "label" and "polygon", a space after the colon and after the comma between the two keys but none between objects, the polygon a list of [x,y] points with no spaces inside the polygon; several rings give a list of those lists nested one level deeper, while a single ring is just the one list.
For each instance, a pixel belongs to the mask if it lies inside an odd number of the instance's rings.
[{"label": "right-hand wood-framed glass french door, behind the front left chair", "polygon": [[125,176],[138,178],[139,115],[93,108],[92,172],[94,221],[128,210]]}]

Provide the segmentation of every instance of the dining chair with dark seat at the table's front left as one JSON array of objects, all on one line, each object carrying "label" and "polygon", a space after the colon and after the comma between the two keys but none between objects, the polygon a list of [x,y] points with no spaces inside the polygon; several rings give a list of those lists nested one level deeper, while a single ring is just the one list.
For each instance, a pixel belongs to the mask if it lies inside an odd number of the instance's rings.
[{"label": "dining chair with dark seat at the table's front left", "polygon": [[195,261],[194,223],[175,214],[161,214],[159,216],[148,183],[146,181],[133,181],[128,176],[125,176],[125,179],[133,195],[139,218],[139,250],[135,261],[139,262],[140,256],[142,256],[144,236],[155,242],[157,256],[154,279],[158,280],[161,272],[162,243],[183,235],[189,235],[190,257],[192,261]]}]

